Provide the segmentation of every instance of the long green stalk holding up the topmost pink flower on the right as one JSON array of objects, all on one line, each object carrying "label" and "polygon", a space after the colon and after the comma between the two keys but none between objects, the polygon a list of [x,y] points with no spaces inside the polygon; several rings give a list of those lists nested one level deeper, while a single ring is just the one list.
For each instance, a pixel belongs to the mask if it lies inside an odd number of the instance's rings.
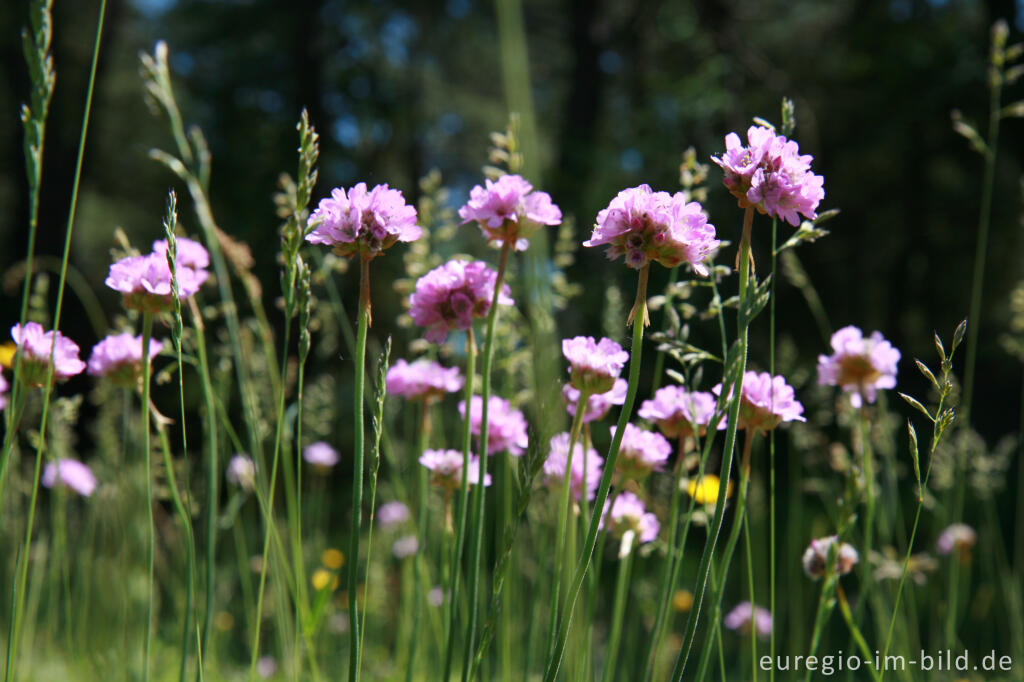
[{"label": "long green stalk holding up the topmost pink flower on the right", "polygon": [[[705,542],[703,554],[700,557],[700,565],[697,567],[697,582],[694,589],[693,606],[686,622],[686,632],[683,635],[683,644],[676,657],[676,665],[673,669],[672,678],[682,680],[686,671],[686,662],[689,658],[690,650],[693,647],[693,640],[696,638],[697,622],[700,619],[700,607],[703,603],[705,591],[708,587],[708,576],[711,572],[712,556],[715,553],[715,546],[718,543],[718,536],[722,530],[722,522],[725,518],[725,497],[732,470],[732,456],[736,444],[736,428],[739,422],[739,402],[743,388],[743,373],[746,371],[746,333],[750,327],[750,318],[746,315],[746,296],[750,280],[750,256],[751,256],[751,227],[754,224],[754,209],[748,208],[743,213],[743,231],[739,242],[739,306],[736,311],[737,327],[737,353],[735,368],[735,383],[732,387],[731,401],[729,404],[728,426],[725,432],[725,445],[722,455],[722,468],[719,473],[718,501],[715,505],[715,518],[712,520],[708,532],[708,540]],[[726,368],[728,374],[729,368]],[[723,387],[723,394],[725,389]]]}]

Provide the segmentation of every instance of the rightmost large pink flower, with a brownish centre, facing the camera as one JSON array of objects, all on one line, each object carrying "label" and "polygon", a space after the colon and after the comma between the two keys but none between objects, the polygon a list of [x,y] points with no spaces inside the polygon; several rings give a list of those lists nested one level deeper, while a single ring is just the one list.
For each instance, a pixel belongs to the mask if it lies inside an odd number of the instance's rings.
[{"label": "rightmost large pink flower, with a brownish centre, facing the camera", "polygon": [[831,347],[831,355],[818,355],[818,384],[841,386],[854,408],[874,402],[880,388],[896,387],[900,353],[881,332],[864,338],[856,327],[844,327],[833,334]]}]

